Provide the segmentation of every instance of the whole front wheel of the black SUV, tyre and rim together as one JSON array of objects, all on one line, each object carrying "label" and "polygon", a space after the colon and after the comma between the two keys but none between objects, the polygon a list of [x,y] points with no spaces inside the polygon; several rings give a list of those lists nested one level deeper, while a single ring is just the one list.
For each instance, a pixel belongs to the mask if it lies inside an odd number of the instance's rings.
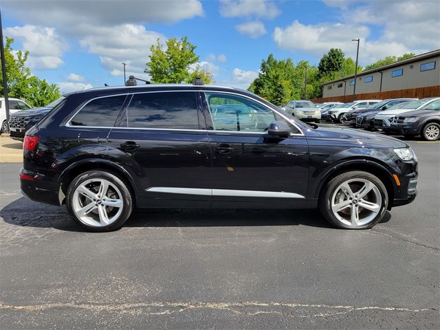
[{"label": "whole front wheel of the black SUV, tyre and rim together", "polygon": [[[365,188],[368,191],[363,195]],[[375,175],[356,170],[333,177],[323,188],[318,206],[325,219],[336,228],[368,229],[384,217],[388,192]],[[336,211],[338,206],[340,210]]]}]

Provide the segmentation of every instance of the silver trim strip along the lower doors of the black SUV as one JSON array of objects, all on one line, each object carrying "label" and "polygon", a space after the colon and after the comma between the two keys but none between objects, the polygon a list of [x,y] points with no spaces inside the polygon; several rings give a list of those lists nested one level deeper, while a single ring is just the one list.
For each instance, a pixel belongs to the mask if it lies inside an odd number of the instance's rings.
[{"label": "silver trim strip along the lower doors of the black SUV", "polygon": [[235,190],[235,189],[210,189],[210,188],[180,188],[180,187],[149,187],[146,192],[165,192],[180,195],[199,195],[212,197],[271,197],[305,199],[303,195],[295,192],[265,191],[265,190]]}]

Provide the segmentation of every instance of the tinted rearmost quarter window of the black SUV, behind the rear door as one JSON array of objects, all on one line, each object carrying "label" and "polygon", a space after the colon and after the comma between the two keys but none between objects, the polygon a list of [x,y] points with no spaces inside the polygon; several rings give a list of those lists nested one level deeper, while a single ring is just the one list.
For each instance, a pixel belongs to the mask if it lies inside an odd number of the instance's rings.
[{"label": "tinted rearmost quarter window of the black SUV, behind the rear door", "polygon": [[91,100],[72,118],[72,126],[113,127],[126,95]]}]

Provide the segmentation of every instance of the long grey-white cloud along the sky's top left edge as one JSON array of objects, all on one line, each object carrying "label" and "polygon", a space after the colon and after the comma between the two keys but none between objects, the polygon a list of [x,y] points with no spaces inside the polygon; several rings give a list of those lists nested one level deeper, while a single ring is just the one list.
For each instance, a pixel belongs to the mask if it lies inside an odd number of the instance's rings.
[{"label": "long grey-white cloud along the sky's top left edge", "polygon": [[14,11],[23,21],[32,21],[39,25],[50,23],[74,32],[83,22],[95,26],[129,22],[169,24],[203,16],[203,8],[199,0],[20,0],[4,1],[3,5]]}]

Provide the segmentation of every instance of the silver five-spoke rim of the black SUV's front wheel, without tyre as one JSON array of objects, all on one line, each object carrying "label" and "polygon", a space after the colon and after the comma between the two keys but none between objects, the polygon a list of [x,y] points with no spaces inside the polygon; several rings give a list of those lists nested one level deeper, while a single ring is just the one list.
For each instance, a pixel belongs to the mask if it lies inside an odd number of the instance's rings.
[{"label": "silver five-spoke rim of the black SUV's front wheel, without tyre", "polygon": [[377,217],[382,208],[380,190],[367,179],[349,179],[336,188],[331,211],[344,225],[362,227]]}]

